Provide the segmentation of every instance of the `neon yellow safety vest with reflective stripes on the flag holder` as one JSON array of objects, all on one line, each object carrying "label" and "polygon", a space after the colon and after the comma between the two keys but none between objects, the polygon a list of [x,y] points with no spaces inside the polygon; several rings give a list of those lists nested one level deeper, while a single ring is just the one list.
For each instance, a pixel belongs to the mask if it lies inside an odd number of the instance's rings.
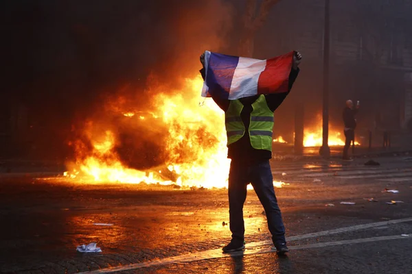
[{"label": "neon yellow safety vest with reflective stripes on the flag holder", "polygon": [[[251,121],[249,124],[249,137],[254,149],[266,149],[272,151],[273,112],[269,109],[264,95],[252,103]],[[229,103],[225,113],[227,131],[227,145],[233,144],[244,136],[245,127],[240,113],[243,105],[239,100]]]}]

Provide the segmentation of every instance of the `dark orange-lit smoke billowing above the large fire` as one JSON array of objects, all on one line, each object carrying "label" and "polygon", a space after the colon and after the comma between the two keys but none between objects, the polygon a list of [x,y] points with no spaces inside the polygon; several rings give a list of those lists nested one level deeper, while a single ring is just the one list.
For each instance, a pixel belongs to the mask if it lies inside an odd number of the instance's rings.
[{"label": "dark orange-lit smoke billowing above the large fire", "polygon": [[60,157],[84,121],[113,119],[107,105],[122,98],[124,107],[150,110],[150,85],[177,89],[198,74],[203,51],[230,45],[233,10],[224,0],[16,0],[2,7],[7,96],[27,106],[38,151]]}]

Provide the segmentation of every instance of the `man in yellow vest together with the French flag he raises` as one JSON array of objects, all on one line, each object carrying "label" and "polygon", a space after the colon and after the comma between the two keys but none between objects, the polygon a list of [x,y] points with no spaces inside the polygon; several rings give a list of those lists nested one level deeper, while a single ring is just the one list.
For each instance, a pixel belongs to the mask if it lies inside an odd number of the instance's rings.
[{"label": "man in yellow vest together with the French flag he raises", "polygon": [[247,185],[253,189],[268,220],[278,253],[286,246],[282,214],[273,188],[273,112],[284,101],[299,74],[297,51],[268,60],[256,60],[205,51],[201,55],[205,80],[202,96],[212,97],[225,111],[229,171],[229,222],[231,242],[224,252],[244,249],[243,204]]}]

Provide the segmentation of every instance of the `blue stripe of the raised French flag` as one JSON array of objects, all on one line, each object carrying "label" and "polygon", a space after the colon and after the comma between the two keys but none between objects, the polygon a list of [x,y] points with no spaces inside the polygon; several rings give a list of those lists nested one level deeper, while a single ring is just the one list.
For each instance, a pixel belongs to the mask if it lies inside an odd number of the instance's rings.
[{"label": "blue stripe of the raised French flag", "polygon": [[210,54],[206,77],[210,95],[219,96],[222,99],[229,98],[230,86],[238,62],[239,58],[236,56]]}]

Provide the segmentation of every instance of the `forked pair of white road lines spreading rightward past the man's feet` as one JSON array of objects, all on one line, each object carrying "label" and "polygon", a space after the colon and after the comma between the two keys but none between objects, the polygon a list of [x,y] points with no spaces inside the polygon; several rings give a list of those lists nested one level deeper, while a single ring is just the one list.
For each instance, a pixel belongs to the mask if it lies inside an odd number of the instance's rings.
[{"label": "forked pair of white road lines spreading rightward past the man's feet", "polygon": [[[310,234],[304,234],[301,236],[292,236],[288,237],[287,240],[302,240],[305,238],[313,238],[317,236],[325,236],[325,235],[330,235],[330,234],[339,234],[343,232],[350,232],[354,230],[359,230],[359,229],[367,229],[371,227],[379,227],[382,225],[391,225],[391,224],[396,224],[396,223],[405,223],[405,222],[410,222],[412,221],[412,218],[404,218],[404,219],[396,219],[396,220],[390,220],[390,221],[382,221],[382,222],[377,222],[377,223],[367,223],[364,225],[354,225],[352,227],[341,227],[338,229],[332,229],[332,230],[325,230],[323,232],[315,232],[315,233],[310,233]],[[410,237],[412,238],[412,237]],[[350,245],[354,243],[360,243],[360,242],[375,242],[378,240],[396,240],[396,239],[410,239],[410,238],[404,238],[400,235],[396,236],[381,236],[381,237],[374,237],[374,238],[361,238],[361,239],[354,239],[354,240],[341,240],[341,241],[336,241],[336,242],[319,242],[316,244],[311,244],[311,245],[298,245],[298,246],[291,246],[291,250],[299,250],[299,249],[310,249],[310,248],[317,248],[317,247],[332,247],[336,245]],[[149,262],[140,262],[137,264],[129,264],[126,266],[116,266],[116,267],[111,267],[111,268],[106,268],[106,269],[99,269],[96,271],[90,271],[90,272],[82,272],[79,274],[85,274],[85,273],[114,273],[118,271],[128,271],[128,270],[134,270],[134,269],[142,269],[150,266],[161,266],[165,264],[176,264],[176,263],[183,263],[183,262],[195,262],[199,260],[209,260],[209,259],[214,259],[214,258],[224,258],[224,257],[229,257],[229,256],[242,256],[242,255],[248,255],[248,254],[258,254],[258,253],[270,253],[270,252],[275,252],[273,249],[249,249],[251,247],[263,247],[265,245],[271,245],[271,241],[260,241],[260,242],[252,242],[251,244],[247,245],[247,250],[245,251],[239,251],[236,253],[222,253],[222,249],[210,249],[207,251],[201,251],[201,252],[196,252],[196,253],[190,253],[182,256],[175,256],[175,257],[170,257],[170,258],[163,258],[160,260],[152,260]]]}]

